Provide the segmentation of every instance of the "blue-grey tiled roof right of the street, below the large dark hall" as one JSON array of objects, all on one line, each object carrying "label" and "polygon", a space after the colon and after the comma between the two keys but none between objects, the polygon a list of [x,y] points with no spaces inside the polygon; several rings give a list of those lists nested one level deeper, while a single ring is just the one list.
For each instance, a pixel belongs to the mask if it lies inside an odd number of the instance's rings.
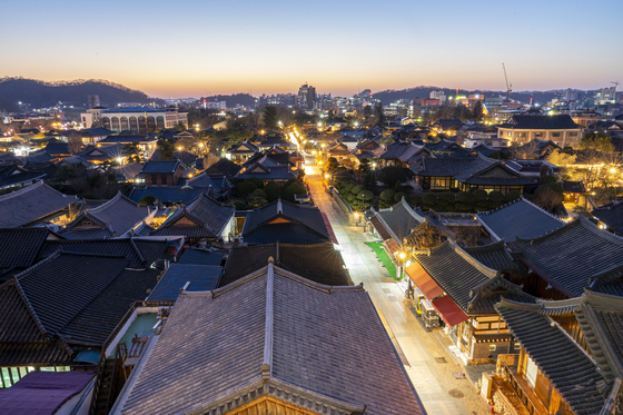
[{"label": "blue-grey tiled roof right of the street, below the large dark hall", "polygon": [[523,197],[478,214],[477,218],[495,240],[507,243],[517,237],[535,238],[564,225],[564,221]]}]

